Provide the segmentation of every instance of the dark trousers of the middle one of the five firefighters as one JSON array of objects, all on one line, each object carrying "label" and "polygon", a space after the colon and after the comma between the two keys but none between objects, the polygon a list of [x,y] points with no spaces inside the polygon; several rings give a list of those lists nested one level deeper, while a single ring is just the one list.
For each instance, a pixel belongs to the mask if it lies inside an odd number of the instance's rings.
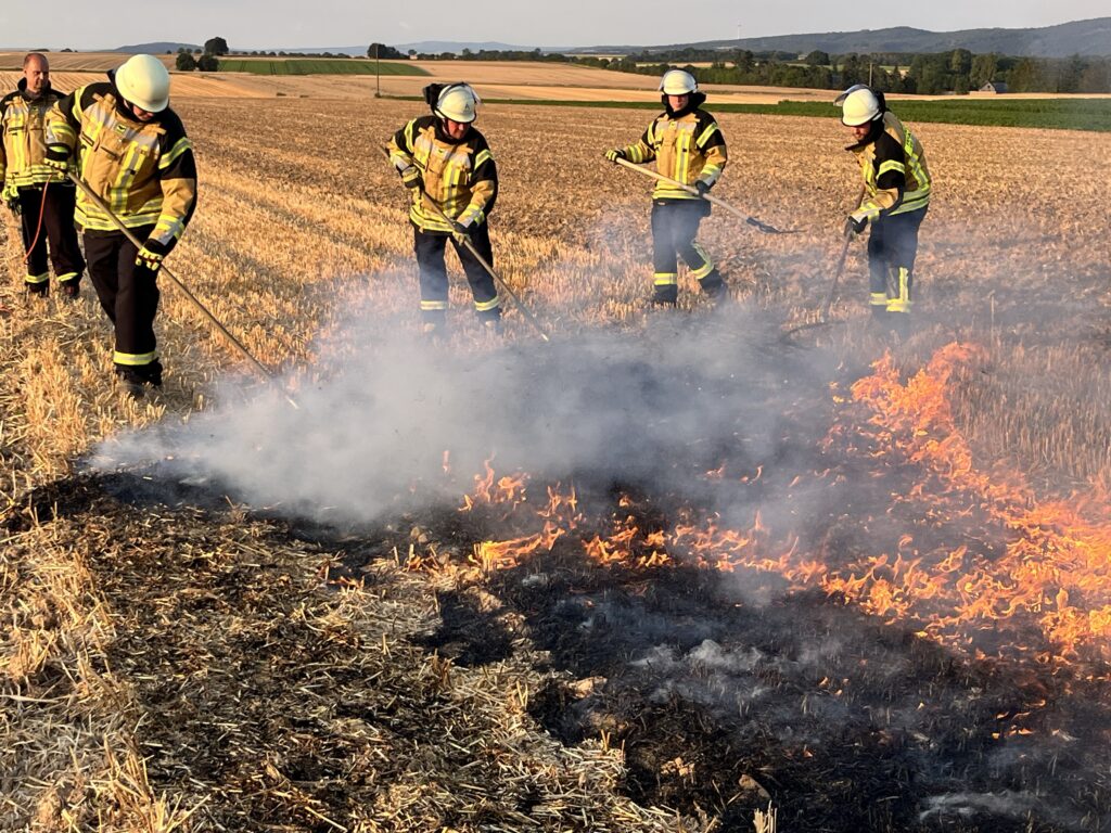
[{"label": "dark trousers of the middle one of the five firefighters", "polygon": [[[490,230],[482,223],[471,232],[471,243],[487,263],[493,265],[493,250],[490,245]],[[474,312],[480,319],[497,321],[501,318],[501,300],[493,278],[471,254],[470,250],[444,232],[421,231],[413,227],[413,250],[420,268],[421,317],[429,323],[442,323],[448,313],[448,270],[443,262],[448,241],[456,248],[459,262],[463,265],[467,282],[474,298]]]}]

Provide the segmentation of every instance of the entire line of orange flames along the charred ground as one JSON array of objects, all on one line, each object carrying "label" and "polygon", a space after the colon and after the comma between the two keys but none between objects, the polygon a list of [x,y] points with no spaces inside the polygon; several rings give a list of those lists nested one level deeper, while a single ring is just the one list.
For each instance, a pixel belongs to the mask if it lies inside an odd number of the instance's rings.
[{"label": "entire line of orange flames along the charred ground", "polygon": [[[511,568],[559,542],[605,565],[774,573],[790,588],[820,588],[969,654],[1102,663],[1111,635],[1111,503],[1095,491],[1040,501],[1018,472],[977,468],[952,416],[950,384],[958,369],[984,359],[982,348],[952,343],[903,382],[884,355],[851,395],[834,393],[835,419],[817,450],[823,465],[791,478],[789,489],[807,481],[887,488],[888,506],[853,519],[869,534],[851,548],[828,538],[808,551],[799,530],[765,528],[759,512],[747,529],[732,529],[717,513],[680,506],[668,528],[642,529],[628,495],[599,522],[583,518],[573,485],[549,485],[538,508],[527,475],[496,478],[487,463],[461,511],[497,505],[516,529],[541,531],[484,541],[471,560],[483,570]],[[725,471],[704,476],[721,481]],[[762,475],[758,469],[735,482]]]}]

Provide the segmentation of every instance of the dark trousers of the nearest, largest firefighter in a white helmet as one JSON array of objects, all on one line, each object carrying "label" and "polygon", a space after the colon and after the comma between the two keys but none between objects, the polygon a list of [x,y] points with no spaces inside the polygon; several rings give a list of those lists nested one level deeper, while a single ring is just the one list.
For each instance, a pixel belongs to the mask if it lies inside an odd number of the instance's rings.
[{"label": "dark trousers of the nearest, largest firefighter in a white helmet", "polygon": [[[153,228],[132,229],[132,233],[146,240]],[[116,325],[112,361],[117,368],[130,368],[151,381],[161,381],[154,341],[157,273],[136,263],[136,244],[119,231],[84,232],[84,254],[100,305]]]}]

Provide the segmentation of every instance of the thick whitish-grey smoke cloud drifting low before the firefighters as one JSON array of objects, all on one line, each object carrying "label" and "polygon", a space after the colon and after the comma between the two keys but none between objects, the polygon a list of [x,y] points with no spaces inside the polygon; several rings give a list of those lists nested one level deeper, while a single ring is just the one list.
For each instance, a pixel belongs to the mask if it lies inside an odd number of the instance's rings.
[{"label": "thick whitish-grey smoke cloud drifting low before the firefighters", "polygon": [[158,463],[254,506],[367,523],[437,494],[458,501],[490,458],[502,473],[654,491],[695,489],[692,473],[727,456],[764,455],[777,397],[821,372],[814,357],[784,359],[778,331],[741,308],[653,315],[647,329],[551,344],[520,329],[486,351],[356,317],[319,351],[341,358],[296,381],[299,409],[226,397],[180,428],[106,443],[94,465]]}]

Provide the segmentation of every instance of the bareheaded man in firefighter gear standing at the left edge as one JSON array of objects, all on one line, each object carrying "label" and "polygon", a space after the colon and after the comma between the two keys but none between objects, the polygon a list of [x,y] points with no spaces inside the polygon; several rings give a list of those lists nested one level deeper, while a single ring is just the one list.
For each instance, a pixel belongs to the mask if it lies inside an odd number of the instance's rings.
[{"label": "bareheaded man in firefighter gear standing at the left edge", "polygon": [[77,189],[64,173],[57,174],[43,162],[43,124],[50,108],[61,98],[50,86],[46,57],[28,54],[18,89],[0,100],[0,182],[4,202],[21,215],[28,292],[50,292],[49,242],[58,289],[62,297],[72,299],[80,293],[84,271],[73,228]]}]

